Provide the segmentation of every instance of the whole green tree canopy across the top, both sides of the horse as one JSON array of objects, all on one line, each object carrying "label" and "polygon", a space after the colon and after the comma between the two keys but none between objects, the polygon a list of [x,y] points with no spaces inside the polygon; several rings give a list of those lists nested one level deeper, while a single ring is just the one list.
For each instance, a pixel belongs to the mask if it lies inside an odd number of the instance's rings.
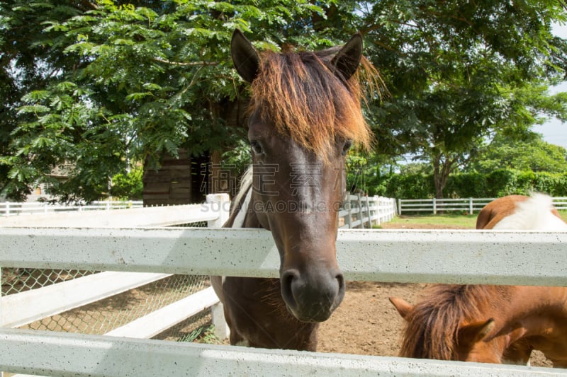
[{"label": "whole green tree canopy across the top, both sides of the horse", "polygon": [[567,119],[567,96],[547,93],[565,79],[567,44],[551,25],[566,14],[537,0],[6,0],[0,191],[22,199],[43,182],[64,201],[88,201],[130,161],[240,146],[247,86],[228,51],[240,28],[260,50],[315,50],[361,30],[389,92],[369,98],[369,158],[430,161],[442,196],[487,137]]}]

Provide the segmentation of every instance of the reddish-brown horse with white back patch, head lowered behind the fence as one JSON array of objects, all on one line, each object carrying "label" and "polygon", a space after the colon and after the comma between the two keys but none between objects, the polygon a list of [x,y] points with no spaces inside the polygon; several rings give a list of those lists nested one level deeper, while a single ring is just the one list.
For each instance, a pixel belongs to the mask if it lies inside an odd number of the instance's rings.
[{"label": "reddish-brown horse with white back patch, head lowered behind the fence", "polygon": [[[530,224],[567,230],[546,195],[496,199],[477,218],[477,228]],[[406,322],[400,356],[527,364],[537,349],[554,366],[567,367],[567,288],[434,284],[415,306],[390,301]]]}]

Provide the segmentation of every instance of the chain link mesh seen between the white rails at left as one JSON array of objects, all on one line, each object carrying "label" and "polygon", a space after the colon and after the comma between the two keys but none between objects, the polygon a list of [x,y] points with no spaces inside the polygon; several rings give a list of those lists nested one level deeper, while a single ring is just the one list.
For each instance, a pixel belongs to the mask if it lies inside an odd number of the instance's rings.
[{"label": "chain link mesh seen between the white rails at left", "polygon": [[[181,226],[205,227],[207,223]],[[1,268],[1,295],[18,294],[96,273],[76,269]],[[175,274],[86,306],[42,318],[21,328],[102,335],[208,286],[208,276]],[[210,321],[210,313],[204,311],[156,335],[154,339],[193,341],[207,333]]]}]

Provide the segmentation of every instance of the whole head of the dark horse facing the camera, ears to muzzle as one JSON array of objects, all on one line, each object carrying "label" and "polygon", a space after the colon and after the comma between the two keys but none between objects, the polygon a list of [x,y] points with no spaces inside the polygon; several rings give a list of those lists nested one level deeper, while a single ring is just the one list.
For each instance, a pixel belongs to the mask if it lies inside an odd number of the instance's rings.
[{"label": "whole head of the dark horse facing the camera, ears to muzzle", "polygon": [[345,156],[353,142],[367,144],[370,137],[350,80],[361,49],[357,34],[322,53],[259,54],[240,30],[232,35],[232,60],[252,84],[247,216],[271,231],[281,257],[281,296],[304,322],[327,320],[344,296],[335,241]]}]

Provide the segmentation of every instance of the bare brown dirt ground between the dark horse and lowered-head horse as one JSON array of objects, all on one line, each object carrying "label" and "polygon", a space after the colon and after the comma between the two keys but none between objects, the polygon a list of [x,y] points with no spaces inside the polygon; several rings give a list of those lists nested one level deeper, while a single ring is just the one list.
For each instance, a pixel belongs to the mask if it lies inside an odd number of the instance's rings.
[{"label": "bare brown dirt ground between the dark horse and lowered-head horse", "polygon": [[[383,224],[383,228],[400,228]],[[403,228],[409,228],[403,225]],[[412,228],[441,228],[420,225]],[[443,228],[449,228],[444,226]],[[455,227],[451,227],[455,228]],[[347,282],[347,293],[319,331],[319,352],[398,356],[403,320],[388,297],[399,296],[417,303],[427,284]],[[533,352],[532,366],[551,366],[540,352]]]}]

